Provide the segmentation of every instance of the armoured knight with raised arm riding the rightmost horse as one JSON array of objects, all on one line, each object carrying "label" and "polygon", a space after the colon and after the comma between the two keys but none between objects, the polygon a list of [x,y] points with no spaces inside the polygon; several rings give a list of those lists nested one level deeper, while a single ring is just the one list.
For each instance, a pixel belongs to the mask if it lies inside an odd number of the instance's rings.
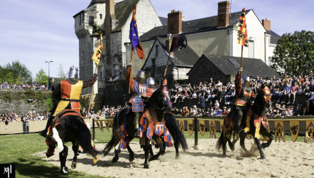
[{"label": "armoured knight with raised arm riding the rightmost horse", "polygon": [[251,105],[251,99],[255,99],[255,94],[253,90],[249,87],[249,76],[244,76],[242,78],[242,68],[240,68],[239,73],[237,73],[234,83],[237,93],[236,102],[234,102],[234,110],[237,110],[237,125],[234,125],[234,130],[239,133],[241,120],[243,117],[243,112],[247,111]]}]

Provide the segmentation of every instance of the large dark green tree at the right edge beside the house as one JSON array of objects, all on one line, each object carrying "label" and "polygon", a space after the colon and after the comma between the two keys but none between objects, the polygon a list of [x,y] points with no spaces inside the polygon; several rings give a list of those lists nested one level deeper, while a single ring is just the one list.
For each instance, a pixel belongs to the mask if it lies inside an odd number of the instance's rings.
[{"label": "large dark green tree at the right edge beside the house", "polygon": [[314,70],[314,33],[295,31],[284,33],[271,58],[271,68],[281,75],[308,75]]}]

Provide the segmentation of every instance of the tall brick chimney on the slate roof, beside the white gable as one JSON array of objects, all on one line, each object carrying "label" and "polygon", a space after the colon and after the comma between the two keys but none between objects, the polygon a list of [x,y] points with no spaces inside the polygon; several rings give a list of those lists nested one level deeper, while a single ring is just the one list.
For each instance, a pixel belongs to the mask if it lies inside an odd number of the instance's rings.
[{"label": "tall brick chimney on the slate roof, beside the white gable", "polygon": [[222,1],[218,3],[217,28],[229,25],[229,6],[229,1]]}]

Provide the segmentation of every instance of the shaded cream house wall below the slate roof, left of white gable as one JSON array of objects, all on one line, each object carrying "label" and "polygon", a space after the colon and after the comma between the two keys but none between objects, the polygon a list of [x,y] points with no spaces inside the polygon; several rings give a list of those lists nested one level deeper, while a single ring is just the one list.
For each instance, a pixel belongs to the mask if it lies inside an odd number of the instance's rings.
[{"label": "shaded cream house wall below the slate roof, left of white gable", "polygon": [[203,53],[227,55],[227,30],[188,34],[186,38],[188,46],[198,56],[202,56]]}]

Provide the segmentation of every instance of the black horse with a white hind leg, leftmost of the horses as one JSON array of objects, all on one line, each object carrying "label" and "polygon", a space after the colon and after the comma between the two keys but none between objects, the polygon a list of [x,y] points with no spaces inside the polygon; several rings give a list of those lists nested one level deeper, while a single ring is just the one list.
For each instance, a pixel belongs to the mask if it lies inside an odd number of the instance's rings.
[{"label": "black horse with a white hind leg, leftmost of the horses", "polygon": [[[57,115],[55,120],[55,127],[51,128],[52,135],[46,139],[46,142],[50,142],[50,148],[48,152],[50,155],[54,151],[53,141],[56,142],[58,147],[56,151],[59,152],[60,159],[60,173],[66,174],[68,172],[65,162],[67,159],[67,146],[64,145],[65,142],[72,142],[72,150],[74,152],[74,157],[72,161],[72,169],[76,168],[77,165],[77,155],[79,154],[79,147],[81,146],[87,155],[94,157],[94,162],[97,160],[98,152],[94,149],[92,145],[91,135],[90,135],[90,124],[87,122],[85,125],[82,116],[78,112],[73,110],[64,110]],[[52,126],[50,126],[52,127]],[[48,145],[48,143],[47,143]]]}]

